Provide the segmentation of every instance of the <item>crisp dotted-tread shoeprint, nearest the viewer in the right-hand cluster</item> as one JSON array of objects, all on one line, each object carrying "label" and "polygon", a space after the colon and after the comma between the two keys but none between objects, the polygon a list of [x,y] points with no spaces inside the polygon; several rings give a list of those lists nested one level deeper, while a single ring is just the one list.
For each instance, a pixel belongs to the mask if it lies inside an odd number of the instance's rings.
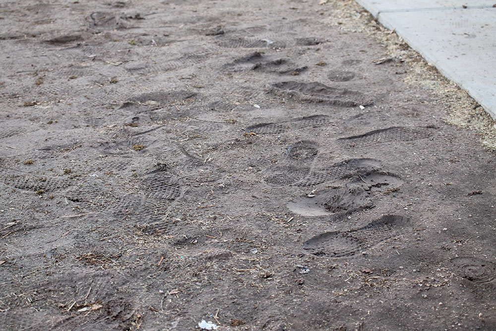
[{"label": "crisp dotted-tread shoeprint, nearest the viewer in the right-hand cluster", "polygon": [[303,244],[303,249],[316,256],[349,257],[391,238],[412,230],[410,219],[399,215],[385,215],[359,229],[325,232]]}]

